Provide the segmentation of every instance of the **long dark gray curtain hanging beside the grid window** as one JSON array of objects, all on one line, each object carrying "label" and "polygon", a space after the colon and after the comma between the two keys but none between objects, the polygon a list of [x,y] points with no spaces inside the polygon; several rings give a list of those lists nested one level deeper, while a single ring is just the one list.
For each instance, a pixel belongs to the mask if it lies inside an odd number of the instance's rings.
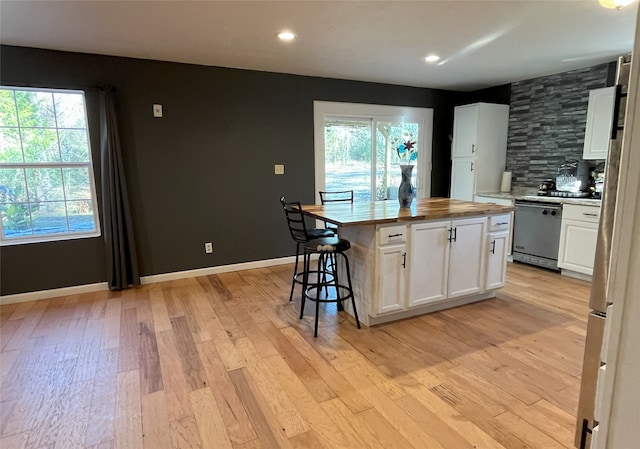
[{"label": "long dark gray curtain hanging beside the grid window", "polygon": [[100,89],[100,159],[102,162],[102,221],[111,290],[140,285],[138,257],[122,163],[115,88]]}]

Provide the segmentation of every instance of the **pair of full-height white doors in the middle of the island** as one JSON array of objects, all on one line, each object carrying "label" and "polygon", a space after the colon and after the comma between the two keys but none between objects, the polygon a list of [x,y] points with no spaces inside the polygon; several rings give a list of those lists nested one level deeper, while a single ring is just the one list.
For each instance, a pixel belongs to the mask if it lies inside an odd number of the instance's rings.
[{"label": "pair of full-height white doors in the middle of the island", "polygon": [[411,226],[407,307],[483,290],[486,222],[481,217]]}]

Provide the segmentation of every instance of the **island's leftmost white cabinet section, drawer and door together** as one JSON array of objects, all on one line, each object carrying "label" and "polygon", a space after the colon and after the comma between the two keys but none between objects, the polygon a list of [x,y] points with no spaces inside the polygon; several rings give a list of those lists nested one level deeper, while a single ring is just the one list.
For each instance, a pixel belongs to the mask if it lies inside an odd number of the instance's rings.
[{"label": "island's leftmost white cabinet section, drawer and door together", "polygon": [[378,229],[376,278],[379,314],[404,308],[406,230],[406,226],[385,226]]}]

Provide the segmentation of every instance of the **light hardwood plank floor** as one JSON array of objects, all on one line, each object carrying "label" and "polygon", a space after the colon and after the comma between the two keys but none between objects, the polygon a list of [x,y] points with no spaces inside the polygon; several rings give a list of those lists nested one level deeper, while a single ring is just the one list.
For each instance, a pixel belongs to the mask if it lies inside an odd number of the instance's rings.
[{"label": "light hardwood plank floor", "polygon": [[588,283],[314,339],[291,269],[1,307],[0,448],[573,447]]}]

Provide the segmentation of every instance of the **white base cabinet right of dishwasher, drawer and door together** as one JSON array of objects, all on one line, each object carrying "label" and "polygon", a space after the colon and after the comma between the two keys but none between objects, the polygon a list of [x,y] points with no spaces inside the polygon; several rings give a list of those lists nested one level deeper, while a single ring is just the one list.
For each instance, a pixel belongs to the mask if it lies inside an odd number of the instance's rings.
[{"label": "white base cabinet right of dishwasher, drawer and door together", "polygon": [[599,206],[563,206],[558,251],[558,267],[563,272],[593,274],[599,221]]}]

